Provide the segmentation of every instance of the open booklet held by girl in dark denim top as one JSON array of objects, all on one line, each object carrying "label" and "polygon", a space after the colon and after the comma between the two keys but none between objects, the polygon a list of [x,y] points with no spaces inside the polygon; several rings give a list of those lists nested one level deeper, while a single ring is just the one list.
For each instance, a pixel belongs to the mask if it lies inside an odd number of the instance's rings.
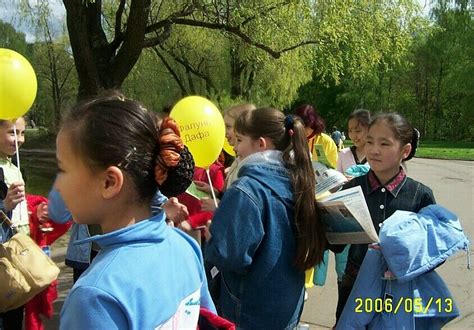
[{"label": "open booklet held by girl in dark denim top", "polygon": [[316,201],[330,244],[368,244],[379,241],[361,187],[338,191]]}]

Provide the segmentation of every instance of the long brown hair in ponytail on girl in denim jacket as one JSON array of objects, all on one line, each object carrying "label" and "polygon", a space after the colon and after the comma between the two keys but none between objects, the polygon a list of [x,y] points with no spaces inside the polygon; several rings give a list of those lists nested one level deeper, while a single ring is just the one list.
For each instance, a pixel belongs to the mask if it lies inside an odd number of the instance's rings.
[{"label": "long brown hair in ponytail on girl in denim jacket", "polygon": [[295,266],[306,270],[320,263],[326,244],[323,225],[315,203],[316,179],[308,152],[304,124],[293,115],[272,108],[244,112],[234,124],[236,132],[258,139],[270,139],[283,152],[295,202]]}]

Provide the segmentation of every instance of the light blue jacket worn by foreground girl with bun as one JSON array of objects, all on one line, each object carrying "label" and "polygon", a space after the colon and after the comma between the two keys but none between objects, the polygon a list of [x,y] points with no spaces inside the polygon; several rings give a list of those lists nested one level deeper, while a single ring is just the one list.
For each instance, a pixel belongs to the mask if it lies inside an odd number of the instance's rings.
[{"label": "light blue jacket worn by foreground girl with bun", "polygon": [[215,313],[199,246],[164,212],[74,244],[92,241],[101,251],[69,292],[61,329],[195,329],[200,306]]}]

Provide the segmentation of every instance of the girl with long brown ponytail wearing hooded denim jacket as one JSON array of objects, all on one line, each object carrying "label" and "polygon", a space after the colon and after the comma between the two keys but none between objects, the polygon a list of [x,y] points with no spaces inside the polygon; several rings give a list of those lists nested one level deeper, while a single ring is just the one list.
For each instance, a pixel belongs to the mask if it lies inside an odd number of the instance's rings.
[{"label": "girl with long brown ponytail wearing hooded denim jacket", "polygon": [[222,315],[242,329],[297,325],[304,271],[325,237],[303,123],[278,110],[243,113],[234,126],[238,179],[214,214],[206,259],[222,274]]}]

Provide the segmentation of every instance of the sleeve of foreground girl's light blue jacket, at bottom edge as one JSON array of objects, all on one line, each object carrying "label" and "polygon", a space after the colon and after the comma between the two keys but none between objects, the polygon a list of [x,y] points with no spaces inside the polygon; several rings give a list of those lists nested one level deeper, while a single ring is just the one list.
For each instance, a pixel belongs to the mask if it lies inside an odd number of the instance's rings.
[{"label": "sleeve of foreground girl's light blue jacket, at bottom edge", "polygon": [[61,310],[60,329],[128,329],[117,300],[95,287],[73,289]]}]

